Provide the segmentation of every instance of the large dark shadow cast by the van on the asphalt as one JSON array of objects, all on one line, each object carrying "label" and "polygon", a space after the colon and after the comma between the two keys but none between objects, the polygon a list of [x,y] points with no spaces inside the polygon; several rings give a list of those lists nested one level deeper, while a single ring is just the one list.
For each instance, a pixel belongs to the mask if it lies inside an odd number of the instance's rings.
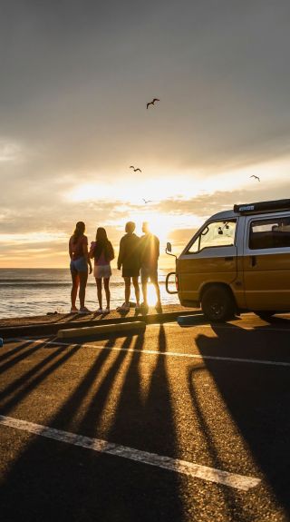
[{"label": "large dark shadow cast by the van on the asphalt", "polygon": [[[279,343],[270,335],[269,327],[256,330],[242,330],[233,326],[220,329],[212,326],[217,337],[199,335],[196,342],[201,355],[243,357],[252,354],[260,359],[284,359],[285,350],[289,359],[289,341],[282,334]],[[263,336],[261,346],[261,331]],[[269,353],[270,352],[270,353]],[[264,353],[264,357],[261,357]],[[227,361],[203,359],[204,368],[214,379],[218,391],[225,402],[231,419],[236,423],[241,437],[247,442],[252,457],[272,488],[275,497],[290,515],[288,472],[290,468],[290,369],[282,366],[241,364]],[[208,439],[210,430],[207,418],[198,403],[195,388],[194,369],[189,371],[189,389],[193,406],[198,412],[200,425]],[[211,447],[212,457],[218,466],[218,453]]]}]

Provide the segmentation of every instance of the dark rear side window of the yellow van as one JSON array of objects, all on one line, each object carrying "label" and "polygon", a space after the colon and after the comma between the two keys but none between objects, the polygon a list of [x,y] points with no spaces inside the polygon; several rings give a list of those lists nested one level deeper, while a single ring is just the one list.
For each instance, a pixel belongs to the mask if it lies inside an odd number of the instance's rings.
[{"label": "dark rear side window of the yellow van", "polygon": [[248,246],[251,250],[290,247],[290,218],[251,222]]}]

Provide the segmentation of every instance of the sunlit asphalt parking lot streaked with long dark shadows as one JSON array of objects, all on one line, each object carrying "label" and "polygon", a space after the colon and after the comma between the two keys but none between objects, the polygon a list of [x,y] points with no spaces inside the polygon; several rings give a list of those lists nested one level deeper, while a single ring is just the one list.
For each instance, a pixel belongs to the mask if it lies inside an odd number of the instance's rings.
[{"label": "sunlit asphalt parking lot streaked with long dark shadows", "polygon": [[290,316],[6,340],[8,520],[290,520]]}]

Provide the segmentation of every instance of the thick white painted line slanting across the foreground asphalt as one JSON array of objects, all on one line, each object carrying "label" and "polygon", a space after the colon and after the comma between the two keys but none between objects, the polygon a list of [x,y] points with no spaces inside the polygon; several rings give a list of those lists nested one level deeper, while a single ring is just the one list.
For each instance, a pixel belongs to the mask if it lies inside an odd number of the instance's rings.
[{"label": "thick white painted line slanting across the foreground asphalt", "polygon": [[179,458],[163,457],[156,453],[149,453],[148,451],[141,451],[140,449],[127,448],[119,444],[108,442],[100,438],[91,438],[83,435],[63,431],[62,429],[48,428],[41,424],[34,424],[21,419],[13,419],[12,417],[5,417],[0,415],[0,424],[9,428],[21,429],[34,435],[40,435],[45,438],[53,438],[73,446],[80,446],[81,448],[92,449],[99,453],[113,455],[115,457],[129,458],[142,464],[149,464],[157,468],[169,469],[175,473],[182,475],[189,475],[192,478],[202,478],[209,482],[216,482],[223,484],[229,488],[242,489],[247,491],[250,488],[255,488],[259,484],[260,479],[254,477],[247,477],[244,475],[237,475],[236,473],[229,473],[221,469],[208,468],[208,466],[199,466],[186,460]]}]

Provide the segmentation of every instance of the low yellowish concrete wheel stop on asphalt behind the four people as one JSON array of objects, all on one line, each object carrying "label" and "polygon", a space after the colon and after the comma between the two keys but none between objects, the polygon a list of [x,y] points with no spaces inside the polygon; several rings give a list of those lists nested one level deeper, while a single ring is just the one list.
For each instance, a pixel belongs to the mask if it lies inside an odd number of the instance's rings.
[{"label": "low yellowish concrete wheel stop on asphalt behind the four people", "polygon": [[89,326],[82,328],[71,328],[69,330],[58,330],[57,337],[60,339],[81,337],[98,337],[104,336],[106,333],[119,334],[123,331],[142,332],[146,329],[146,323],[143,320],[134,320],[131,322],[120,322],[119,324],[102,324],[100,326]]}]

